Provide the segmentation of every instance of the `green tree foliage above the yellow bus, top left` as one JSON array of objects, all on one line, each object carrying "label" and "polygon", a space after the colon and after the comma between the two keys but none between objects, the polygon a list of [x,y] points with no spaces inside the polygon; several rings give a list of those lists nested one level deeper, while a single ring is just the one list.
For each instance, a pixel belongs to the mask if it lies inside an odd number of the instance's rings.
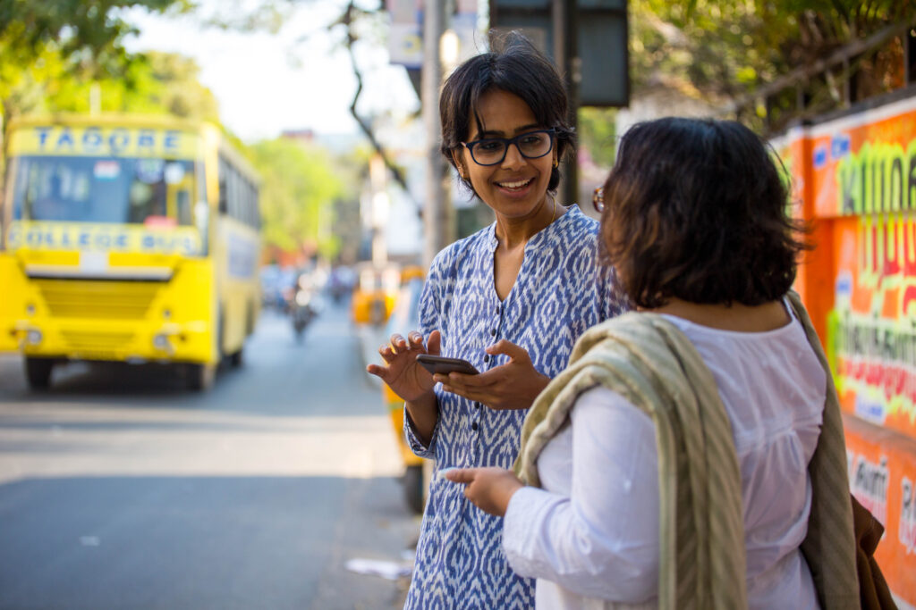
[{"label": "green tree foliage above the yellow bus, top left", "polygon": [[[190,0],[0,0],[0,125],[32,112],[171,113],[215,121],[191,59],[129,55],[120,9],[185,11]],[[4,138],[5,143],[5,138]],[[0,171],[5,155],[0,155]]]}]

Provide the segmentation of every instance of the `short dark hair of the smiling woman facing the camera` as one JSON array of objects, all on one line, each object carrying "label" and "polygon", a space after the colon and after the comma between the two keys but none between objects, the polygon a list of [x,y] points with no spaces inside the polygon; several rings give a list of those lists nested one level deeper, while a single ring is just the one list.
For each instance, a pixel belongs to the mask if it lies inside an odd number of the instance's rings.
[{"label": "short dark hair of the smiling woman facing the camera", "polygon": [[[554,129],[557,157],[562,159],[575,146],[569,122],[566,88],[550,59],[517,31],[491,37],[490,52],[467,59],[445,80],[439,96],[442,120],[442,155],[455,166],[453,152],[462,147],[471,132],[472,117],[483,131],[477,104],[485,93],[506,91],[529,105],[538,123]],[[464,185],[474,190],[470,181]],[[554,167],[548,189],[560,184],[560,170]]]}]

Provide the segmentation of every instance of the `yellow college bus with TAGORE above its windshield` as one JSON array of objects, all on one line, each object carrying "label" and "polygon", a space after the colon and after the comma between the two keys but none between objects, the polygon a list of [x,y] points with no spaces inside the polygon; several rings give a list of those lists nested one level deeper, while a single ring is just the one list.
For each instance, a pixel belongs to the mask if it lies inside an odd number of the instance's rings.
[{"label": "yellow college bus with TAGORE above its windshield", "polygon": [[9,124],[0,350],[49,386],[68,360],[161,362],[194,390],[241,362],[260,306],[256,173],[207,123]]}]

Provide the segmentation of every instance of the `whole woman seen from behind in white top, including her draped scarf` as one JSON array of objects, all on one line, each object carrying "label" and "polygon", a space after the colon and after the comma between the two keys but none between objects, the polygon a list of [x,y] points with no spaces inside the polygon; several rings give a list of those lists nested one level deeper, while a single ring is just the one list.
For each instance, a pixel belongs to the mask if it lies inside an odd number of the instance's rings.
[{"label": "whole woman seen from behind in white top, including her draped scarf", "polygon": [[638,123],[595,203],[638,311],[590,329],[529,410],[521,478],[446,476],[505,515],[538,608],[859,607],[841,416],[767,144]]}]

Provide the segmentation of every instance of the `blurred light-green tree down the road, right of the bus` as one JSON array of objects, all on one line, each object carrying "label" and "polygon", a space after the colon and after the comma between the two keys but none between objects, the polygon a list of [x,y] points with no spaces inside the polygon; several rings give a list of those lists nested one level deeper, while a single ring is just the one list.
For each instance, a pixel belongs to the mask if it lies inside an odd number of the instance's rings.
[{"label": "blurred light-green tree down the road, right of the bus", "polygon": [[334,202],[343,195],[344,183],[330,155],[285,138],[254,144],[249,153],[261,176],[265,245],[285,251],[314,246],[333,259],[340,247],[331,231]]}]

